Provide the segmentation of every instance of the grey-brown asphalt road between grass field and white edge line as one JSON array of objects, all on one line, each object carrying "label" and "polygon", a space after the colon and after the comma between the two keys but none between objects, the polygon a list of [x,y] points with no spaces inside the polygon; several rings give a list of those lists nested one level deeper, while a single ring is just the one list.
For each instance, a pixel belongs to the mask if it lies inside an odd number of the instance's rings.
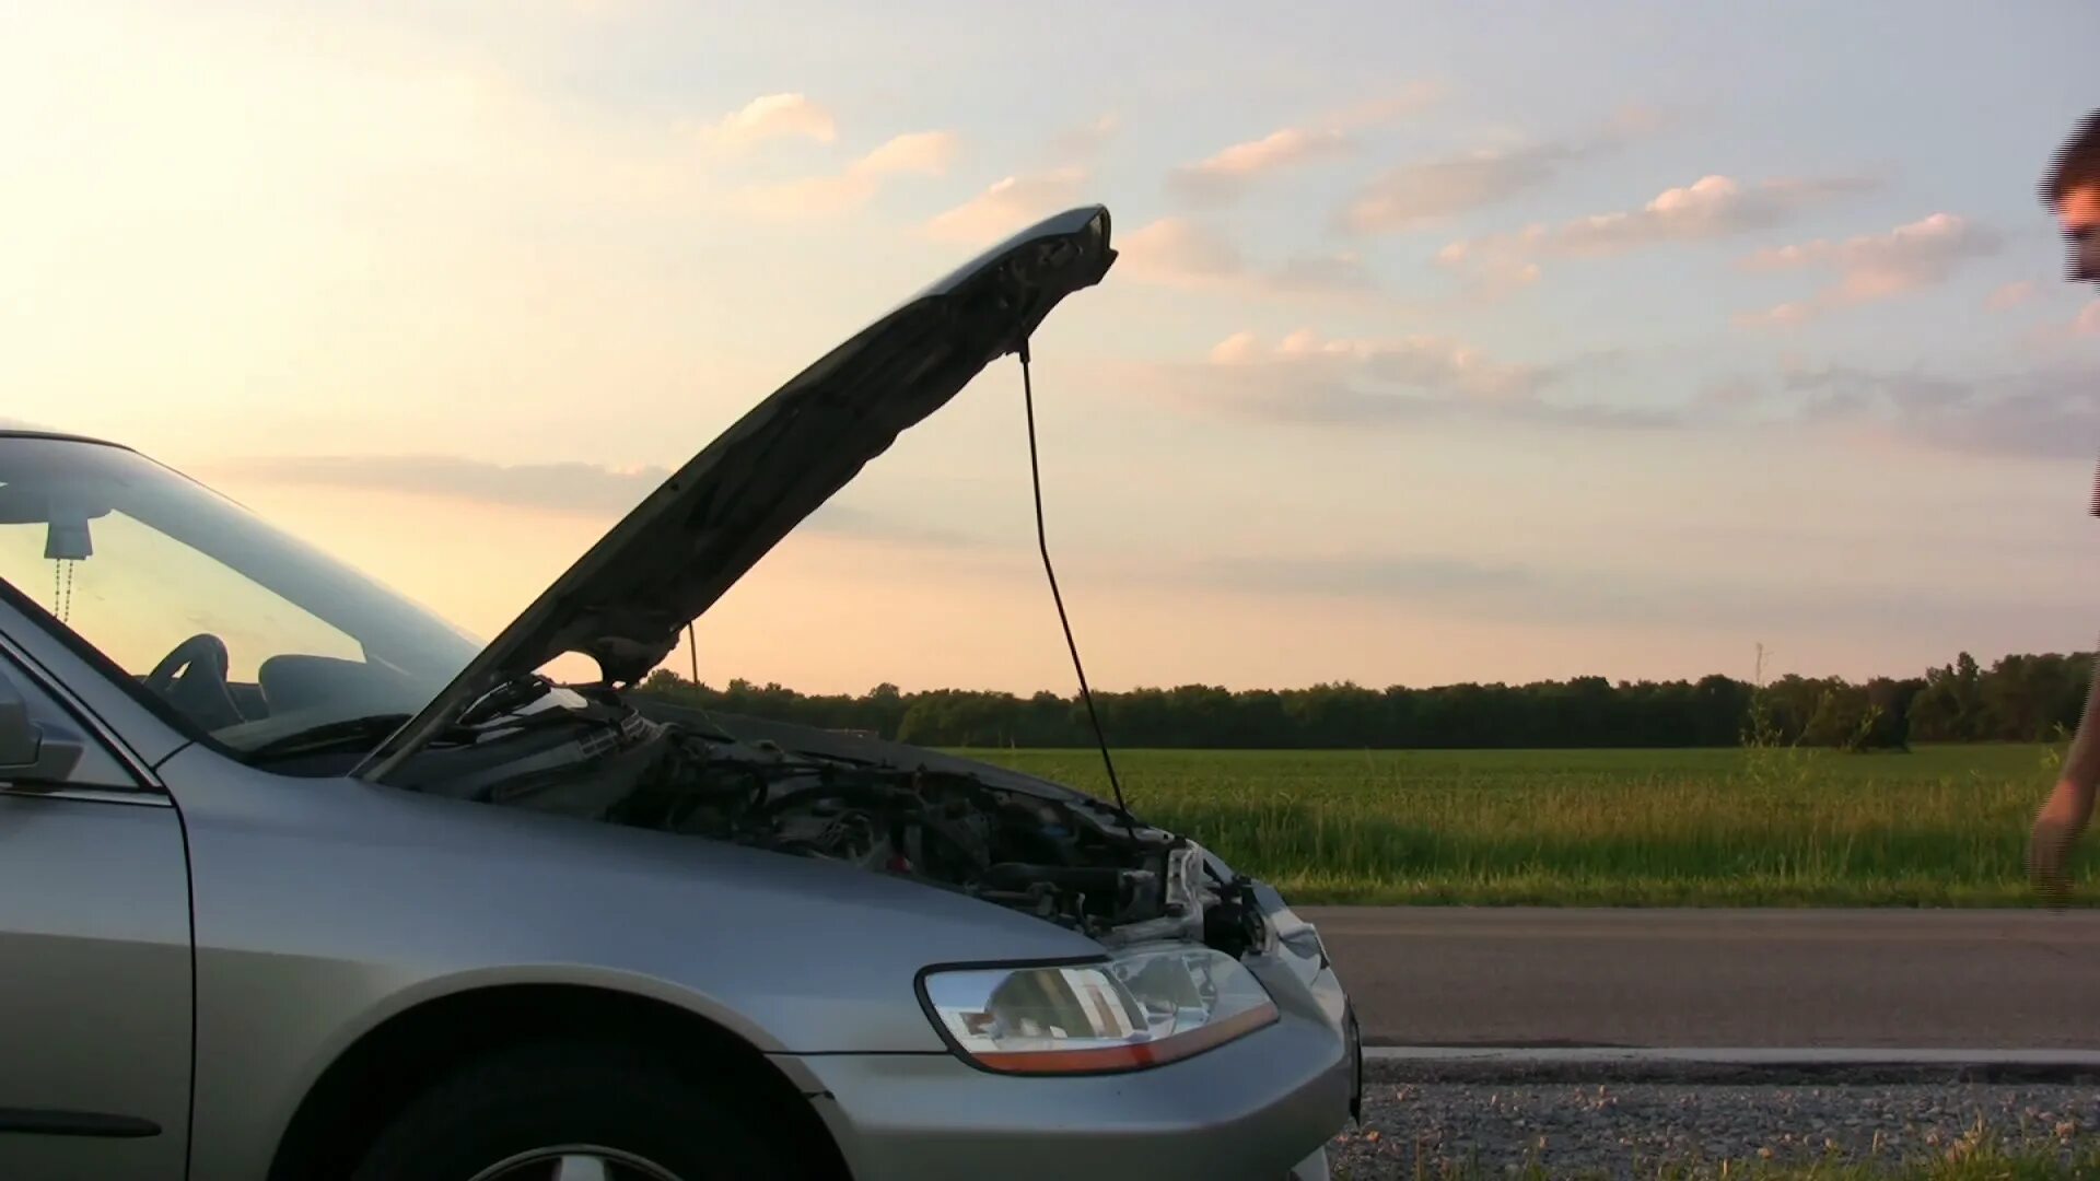
[{"label": "grey-brown asphalt road between grass field and white edge line", "polygon": [[1298,908],[1388,1047],[2100,1049],[2100,914]]}]

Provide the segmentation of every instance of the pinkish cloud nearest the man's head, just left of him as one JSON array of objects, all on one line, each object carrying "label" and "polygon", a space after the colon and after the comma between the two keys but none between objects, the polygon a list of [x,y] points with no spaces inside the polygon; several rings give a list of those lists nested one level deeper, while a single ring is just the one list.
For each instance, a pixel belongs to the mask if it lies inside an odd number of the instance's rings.
[{"label": "pinkish cloud nearest the man's head, just left of him", "polygon": [[1945,284],[1964,263],[1995,254],[2001,244],[1984,225],[1936,212],[1888,233],[1758,250],[1743,258],[1743,269],[1835,273],[1835,282],[1812,298],[1756,313],[1766,324],[1800,324],[1838,307],[1880,303]]}]

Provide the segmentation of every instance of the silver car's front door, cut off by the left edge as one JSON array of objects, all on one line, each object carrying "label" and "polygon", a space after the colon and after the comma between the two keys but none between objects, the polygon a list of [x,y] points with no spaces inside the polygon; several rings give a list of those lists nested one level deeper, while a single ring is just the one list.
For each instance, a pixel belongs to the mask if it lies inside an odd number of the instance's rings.
[{"label": "silver car's front door, cut off by the left edge", "polygon": [[181,1179],[183,824],[61,693],[0,649],[0,1177]]}]

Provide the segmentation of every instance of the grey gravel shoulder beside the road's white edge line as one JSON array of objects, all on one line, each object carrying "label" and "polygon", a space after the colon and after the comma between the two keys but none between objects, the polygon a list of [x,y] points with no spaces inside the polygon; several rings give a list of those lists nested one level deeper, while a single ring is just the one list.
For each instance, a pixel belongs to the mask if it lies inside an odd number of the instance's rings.
[{"label": "grey gravel shoulder beside the road's white edge line", "polygon": [[1655,1068],[1483,1070],[1369,1063],[1363,1126],[1329,1145],[1348,1181],[1480,1177],[1720,1175],[1718,1164],[1945,1160],[1995,1137],[2060,1160],[2100,1145],[2100,1080],[2079,1074],[1852,1070],[1772,1074]]}]

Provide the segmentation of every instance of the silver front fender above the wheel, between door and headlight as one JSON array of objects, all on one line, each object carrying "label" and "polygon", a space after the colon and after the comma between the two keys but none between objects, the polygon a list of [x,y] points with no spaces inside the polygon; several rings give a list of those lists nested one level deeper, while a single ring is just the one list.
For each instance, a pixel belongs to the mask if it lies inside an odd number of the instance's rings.
[{"label": "silver front fender above the wheel, between door and headlight", "polygon": [[252,1175],[357,1036],[452,992],[580,983],[771,1053],[945,1053],[911,988],[920,967],[1100,954],[1037,918],[817,859],[292,780],[206,746],[162,775],[195,864],[195,1141],[212,1177]]}]

